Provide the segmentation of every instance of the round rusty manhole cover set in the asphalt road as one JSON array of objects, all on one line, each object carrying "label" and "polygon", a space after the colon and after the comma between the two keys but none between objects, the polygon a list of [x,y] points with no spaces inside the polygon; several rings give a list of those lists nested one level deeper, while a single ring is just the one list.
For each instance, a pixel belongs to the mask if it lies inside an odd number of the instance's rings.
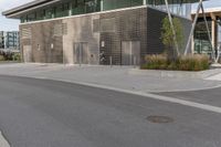
[{"label": "round rusty manhole cover set in the asphalt road", "polygon": [[173,119],[168,116],[148,116],[147,120],[156,124],[167,124],[173,122]]}]

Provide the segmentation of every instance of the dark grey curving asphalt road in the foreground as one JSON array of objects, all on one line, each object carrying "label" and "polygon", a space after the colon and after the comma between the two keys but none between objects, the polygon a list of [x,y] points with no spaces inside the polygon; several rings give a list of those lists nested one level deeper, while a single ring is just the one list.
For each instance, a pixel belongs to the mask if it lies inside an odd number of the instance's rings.
[{"label": "dark grey curving asphalt road in the foreground", "polygon": [[[171,122],[147,120],[155,115]],[[220,125],[219,113],[149,97],[0,76],[0,129],[12,147],[220,147]]]}]

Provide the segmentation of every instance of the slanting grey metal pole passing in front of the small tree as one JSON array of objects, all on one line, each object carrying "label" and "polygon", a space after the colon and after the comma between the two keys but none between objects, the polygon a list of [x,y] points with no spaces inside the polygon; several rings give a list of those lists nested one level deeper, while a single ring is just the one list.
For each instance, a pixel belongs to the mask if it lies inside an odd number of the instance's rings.
[{"label": "slanting grey metal pole passing in front of the small tree", "polygon": [[169,10],[168,0],[165,0],[165,3],[166,3],[166,9],[167,9],[170,27],[172,29],[172,34],[173,34],[175,46],[176,46],[176,50],[177,50],[177,55],[179,56],[180,55],[179,46],[178,46],[178,42],[177,42],[177,35],[176,35],[176,31],[175,31],[175,25],[172,23],[172,17],[171,17],[171,13],[170,13],[170,10]]}]

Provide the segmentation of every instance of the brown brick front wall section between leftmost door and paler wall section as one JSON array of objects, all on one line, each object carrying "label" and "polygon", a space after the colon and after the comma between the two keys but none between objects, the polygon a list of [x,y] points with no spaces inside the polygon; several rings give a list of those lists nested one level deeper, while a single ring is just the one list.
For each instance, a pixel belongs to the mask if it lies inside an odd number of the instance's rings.
[{"label": "brown brick front wall section between leftmost door and paler wall section", "polygon": [[63,63],[63,40],[54,35],[54,27],[60,24],[62,21],[56,20],[20,25],[20,30],[31,30],[31,39],[21,38],[21,48],[32,46],[32,62]]}]

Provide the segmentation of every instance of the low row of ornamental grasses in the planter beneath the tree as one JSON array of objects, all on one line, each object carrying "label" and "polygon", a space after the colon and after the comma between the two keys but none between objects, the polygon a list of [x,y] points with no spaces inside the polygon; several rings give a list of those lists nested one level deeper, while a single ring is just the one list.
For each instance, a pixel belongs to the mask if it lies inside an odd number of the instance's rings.
[{"label": "low row of ornamental grasses in the planter beneath the tree", "polygon": [[169,59],[167,55],[147,55],[141,69],[148,70],[176,70],[176,71],[203,71],[208,70],[210,62],[207,55],[187,55]]}]

